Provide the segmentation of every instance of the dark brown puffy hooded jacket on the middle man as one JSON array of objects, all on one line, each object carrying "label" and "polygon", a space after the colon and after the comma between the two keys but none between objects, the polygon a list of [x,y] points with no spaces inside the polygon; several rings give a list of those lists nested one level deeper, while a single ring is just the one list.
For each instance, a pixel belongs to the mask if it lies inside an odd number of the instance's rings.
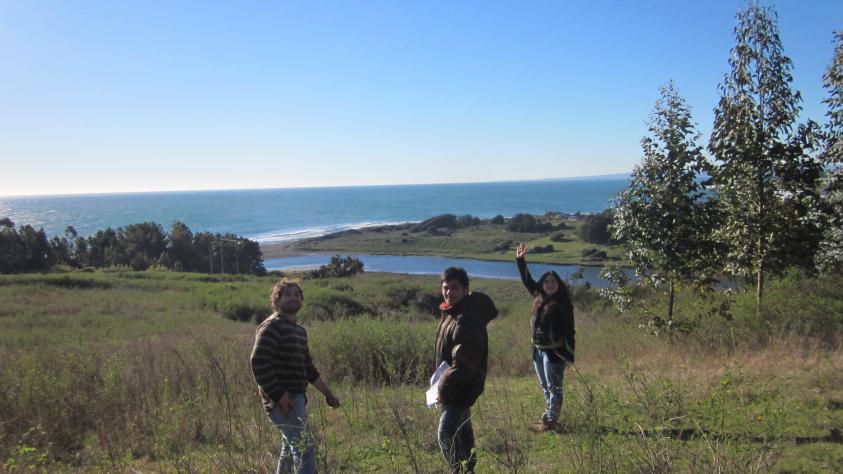
[{"label": "dark brown puffy hooded jacket on the middle man", "polygon": [[468,408],[483,393],[489,359],[486,324],[498,315],[492,299],[483,293],[466,295],[454,307],[440,306],[442,319],[436,330],[436,366],[450,368],[439,381],[439,400]]}]

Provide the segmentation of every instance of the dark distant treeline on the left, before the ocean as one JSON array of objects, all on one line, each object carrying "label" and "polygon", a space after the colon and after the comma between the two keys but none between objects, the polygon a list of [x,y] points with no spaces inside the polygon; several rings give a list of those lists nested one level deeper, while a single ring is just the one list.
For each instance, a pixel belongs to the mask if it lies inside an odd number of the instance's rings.
[{"label": "dark distant treeline on the left, before the ocean", "polygon": [[56,265],[266,273],[257,242],[230,233],[194,234],[182,222],[173,223],[169,232],[160,224],[141,222],[118,229],[109,227],[89,237],[80,237],[69,226],[63,236],[48,239],[43,229],[30,225],[16,228],[11,219],[0,219],[0,273],[48,271]]}]

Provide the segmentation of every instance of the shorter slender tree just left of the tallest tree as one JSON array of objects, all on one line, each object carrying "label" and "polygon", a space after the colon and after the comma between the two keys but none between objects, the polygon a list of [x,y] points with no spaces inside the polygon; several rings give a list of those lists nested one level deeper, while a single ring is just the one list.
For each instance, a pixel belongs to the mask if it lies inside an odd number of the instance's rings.
[{"label": "shorter slender tree just left of the tallest tree", "polygon": [[676,285],[697,281],[712,255],[711,205],[699,180],[710,167],[690,108],[673,82],[660,89],[649,131],[641,140],[641,163],[615,198],[611,229],[638,275],[654,287],[667,285],[670,324]]}]

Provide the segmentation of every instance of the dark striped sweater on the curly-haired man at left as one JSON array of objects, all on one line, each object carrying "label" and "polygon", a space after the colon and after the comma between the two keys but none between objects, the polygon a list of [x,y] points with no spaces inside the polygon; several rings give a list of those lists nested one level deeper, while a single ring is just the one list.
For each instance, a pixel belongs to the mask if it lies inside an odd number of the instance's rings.
[{"label": "dark striped sweater on the curly-haired man at left", "polygon": [[304,393],[307,384],[319,378],[307,347],[307,331],[277,313],[258,326],[251,365],[267,411],[284,392]]}]

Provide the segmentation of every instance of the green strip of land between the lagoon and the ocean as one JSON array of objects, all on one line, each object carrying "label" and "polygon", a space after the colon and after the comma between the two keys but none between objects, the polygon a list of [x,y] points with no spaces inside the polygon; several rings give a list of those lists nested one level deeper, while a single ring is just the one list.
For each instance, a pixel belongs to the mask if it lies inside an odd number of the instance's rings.
[{"label": "green strip of land between the lagoon and the ocean", "polygon": [[[553,220],[559,223],[558,219]],[[549,253],[530,254],[532,262],[557,263],[571,265],[597,265],[583,257],[583,251],[596,249],[606,252],[610,258],[623,258],[618,246],[597,245],[580,239],[577,229],[580,220],[565,220],[567,229],[562,230],[565,241],[551,242],[550,235],[557,231],[544,233],[510,232],[503,224],[488,222],[461,227],[450,235],[433,235],[428,232],[412,232],[413,224],[370,227],[361,230],[346,231],[325,237],[300,240],[292,243],[292,250],[301,252],[324,253],[365,253],[374,255],[437,255],[444,257],[474,258],[480,260],[510,261],[515,259],[515,246],[518,242],[527,242],[530,248],[553,245]],[[506,249],[500,250],[502,243],[511,242]]]}]

